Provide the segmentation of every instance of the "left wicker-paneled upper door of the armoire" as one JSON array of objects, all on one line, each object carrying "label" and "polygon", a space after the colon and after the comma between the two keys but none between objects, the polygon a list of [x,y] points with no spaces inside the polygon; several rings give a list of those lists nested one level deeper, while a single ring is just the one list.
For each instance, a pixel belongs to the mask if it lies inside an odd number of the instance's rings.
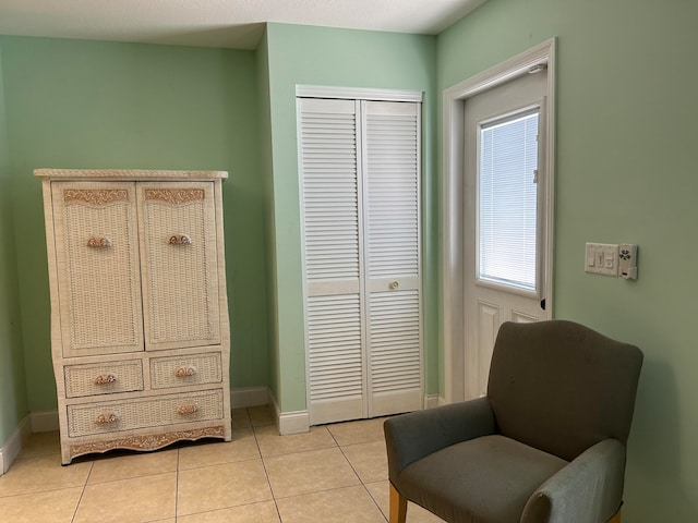
[{"label": "left wicker-paneled upper door of the armoire", "polygon": [[63,357],[143,351],[135,184],[53,182]]}]

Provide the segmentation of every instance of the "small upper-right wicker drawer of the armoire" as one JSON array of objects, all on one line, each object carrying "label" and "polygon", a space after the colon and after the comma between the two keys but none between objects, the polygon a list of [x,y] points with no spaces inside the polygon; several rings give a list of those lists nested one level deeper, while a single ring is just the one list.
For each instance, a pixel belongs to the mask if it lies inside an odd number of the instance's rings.
[{"label": "small upper-right wicker drawer of the armoire", "polygon": [[186,356],[154,357],[151,360],[151,387],[185,387],[222,381],[220,353]]}]

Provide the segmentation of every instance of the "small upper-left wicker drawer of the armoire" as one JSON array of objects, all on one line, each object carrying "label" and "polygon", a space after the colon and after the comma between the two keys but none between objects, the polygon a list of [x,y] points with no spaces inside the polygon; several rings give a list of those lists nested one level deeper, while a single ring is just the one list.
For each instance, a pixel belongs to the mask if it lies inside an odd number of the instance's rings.
[{"label": "small upper-left wicker drawer of the armoire", "polygon": [[67,365],[63,375],[67,398],[143,390],[140,360]]}]

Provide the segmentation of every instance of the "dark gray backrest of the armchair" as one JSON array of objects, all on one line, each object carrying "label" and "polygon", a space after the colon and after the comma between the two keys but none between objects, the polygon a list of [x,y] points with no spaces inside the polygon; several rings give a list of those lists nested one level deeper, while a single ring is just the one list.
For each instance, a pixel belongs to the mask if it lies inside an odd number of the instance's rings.
[{"label": "dark gray backrest of the armchair", "polygon": [[501,434],[571,461],[605,438],[627,441],[642,352],[566,320],[506,323],[488,397]]}]

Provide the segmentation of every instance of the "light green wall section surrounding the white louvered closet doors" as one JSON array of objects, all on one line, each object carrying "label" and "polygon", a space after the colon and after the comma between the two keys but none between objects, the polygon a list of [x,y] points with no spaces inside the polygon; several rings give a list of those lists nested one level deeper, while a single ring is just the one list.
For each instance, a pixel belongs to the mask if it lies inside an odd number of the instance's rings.
[{"label": "light green wall section surrounding the white louvered closet doors", "polygon": [[[305,405],[305,349],[303,335],[301,218],[299,206],[298,143],[296,139],[296,86],[321,85],[411,89],[425,93],[424,230],[433,229],[433,123],[435,110],[435,38],[404,34],[330,29],[325,27],[268,24],[270,139],[274,214],[273,299],[276,333],[272,340],[276,382],[272,388],[282,412]],[[426,234],[425,251],[425,348],[426,390],[437,391],[434,239]],[[281,373],[280,369],[284,372]]]}]

